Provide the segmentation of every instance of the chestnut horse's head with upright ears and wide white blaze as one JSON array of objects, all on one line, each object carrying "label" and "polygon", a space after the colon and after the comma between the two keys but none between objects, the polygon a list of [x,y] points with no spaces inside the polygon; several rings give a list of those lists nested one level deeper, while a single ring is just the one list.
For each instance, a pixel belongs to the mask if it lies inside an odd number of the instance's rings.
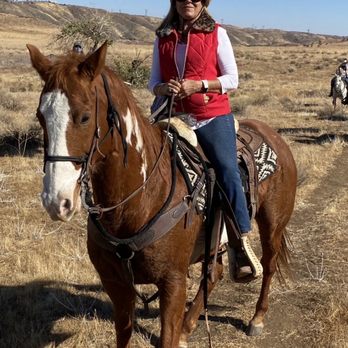
[{"label": "chestnut horse's head with upright ears and wide white blaze", "polygon": [[96,132],[96,77],[104,69],[106,44],[85,57],[51,60],[27,45],[44,81],[37,117],[44,130],[42,202],[54,220],[68,221],[81,207],[79,178]]}]

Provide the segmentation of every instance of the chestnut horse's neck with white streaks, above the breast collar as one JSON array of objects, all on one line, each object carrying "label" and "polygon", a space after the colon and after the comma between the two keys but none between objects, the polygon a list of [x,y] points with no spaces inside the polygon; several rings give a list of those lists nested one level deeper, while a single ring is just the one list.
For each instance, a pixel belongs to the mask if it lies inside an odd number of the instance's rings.
[{"label": "chestnut horse's neck with white streaks, above the breast collar", "polygon": [[93,189],[96,203],[104,207],[116,205],[136,192],[112,212],[111,220],[118,223],[118,227],[115,223],[110,225],[113,232],[122,229],[127,234],[127,230],[137,230],[146,223],[168,194],[169,188],[163,185],[168,184],[170,177],[170,156],[166,146],[157,164],[163,134],[143,118],[133,100],[118,112],[122,134],[114,129],[113,142],[109,142],[111,148],[97,169]]}]

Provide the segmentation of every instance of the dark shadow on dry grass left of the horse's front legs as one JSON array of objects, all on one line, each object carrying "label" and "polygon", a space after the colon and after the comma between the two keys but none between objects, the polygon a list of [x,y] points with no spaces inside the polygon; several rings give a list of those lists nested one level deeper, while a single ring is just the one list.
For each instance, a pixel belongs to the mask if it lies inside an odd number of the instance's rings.
[{"label": "dark shadow on dry grass left of the horse's front legs", "polygon": [[66,317],[112,320],[111,304],[93,295],[100,286],[84,285],[77,290],[74,294],[53,281],[1,285],[0,347],[58,346],[72,336],[53,332],[55,322]]}]

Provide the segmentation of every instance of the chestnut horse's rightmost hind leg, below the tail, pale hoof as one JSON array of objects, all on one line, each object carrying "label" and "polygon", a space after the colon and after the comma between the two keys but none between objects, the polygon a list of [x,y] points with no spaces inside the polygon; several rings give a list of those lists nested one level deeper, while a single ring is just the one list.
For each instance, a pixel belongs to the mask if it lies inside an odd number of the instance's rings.
[{"label": "chestnut horse's rightmost hind leg, below the tail, pale hoof", "polygon": [[[277,268],[277,257],[282,249],[282,243],[284,243],[284,241],[282,242],[282,238],[285,232],[285,226],[288,222],[288,219],[286,219],[286,221],[275,221],[274,218],[272,219],[272,217],[270,217],[272,215],[277,215],[276,208],[271,207],[272,203],[273,202],[266,203],[268,205],[268,214],[266,214],[266,209],[260,209],[256,216],[262,245],[261,264],[263,266],[263,278],[260,296],[256,304],[256,312],[247,329],[247,335],[249,336],[258,336],[262,333],[264,327],[263,320],[269,305],[269,289],[272,277]],[[273,211],[273,214],[270,214],[270,211]]]}]

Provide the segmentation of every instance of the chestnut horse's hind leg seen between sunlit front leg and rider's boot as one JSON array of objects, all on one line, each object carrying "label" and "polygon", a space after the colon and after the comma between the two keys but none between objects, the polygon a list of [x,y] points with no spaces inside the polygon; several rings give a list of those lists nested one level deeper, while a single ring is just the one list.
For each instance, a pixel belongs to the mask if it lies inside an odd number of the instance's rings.
[{"label": "chestnut horse's hind leg seen between sunlit front leg and rider's boot", "polygon": [[[216,268],[215,268],[215,274],[214,274],[214,283],[211,281],[211,278],[209,277],[208,280],[208,296],[213,290],[216,283],[222,279],[222,271],[223,271],[223,265],[222,265],[222,256],[218,257]],[[192,334],[193,330],[197,326],[197,320],[202,313],[203,305],[204,305],[204,292],[203,292],[203,280],[201,281],[201,284],[199,286],[199,289],[197,291],[197,294],[190,305],[189,310],[185,314],[184,323],[182,327],[182,333],[180,336],[180,347],[187,347],[187,339]]]}]

